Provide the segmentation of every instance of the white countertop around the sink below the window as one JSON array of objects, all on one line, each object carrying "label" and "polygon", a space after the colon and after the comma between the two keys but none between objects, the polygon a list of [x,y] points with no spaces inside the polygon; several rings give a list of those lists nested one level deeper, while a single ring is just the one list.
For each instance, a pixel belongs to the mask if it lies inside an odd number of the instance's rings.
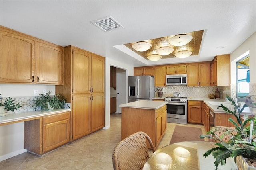
[{"label": "white countertop around the sink below the window", "polygon": [[[227,102],[225,99],[209,99],[209,98],[188,98],[187,100],[198,100],[198,101],[204,101],[208,107],[210,107],[210,109],[212,111],[214,111],[214,113],[227,113],[226,111],[224,111],[221,107],[218,109],[217,107],[220,105],[212,105],[209,102]],[[240,108],[243,107],[244,102],[238,102],[240,103]],[[225,104],[223,104],[224,106],[226,106]],[[231,105],[231,102],[230,102]],[[231,106],[226,106],[228,107],[228,109],[232,110],[232,105]],[[248,114],[248,115],[256,115],[256,108],[250,108],[250,107],[246,107],[244,108],[243,114]],[[230,114],[230,113],[227,113]]]}]

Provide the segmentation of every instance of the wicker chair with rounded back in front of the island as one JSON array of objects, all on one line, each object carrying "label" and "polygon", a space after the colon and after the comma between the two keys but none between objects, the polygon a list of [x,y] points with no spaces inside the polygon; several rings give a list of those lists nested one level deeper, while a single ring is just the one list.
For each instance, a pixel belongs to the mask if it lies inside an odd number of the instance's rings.
[{"label": "wicker chair with rounded back in front of the island", "polygon": [[113,150],[112,161],[114,170],[140,170],[149,158],[148,140],[155,152],[150,137],[144,132],[136,132],[120,141]]}]

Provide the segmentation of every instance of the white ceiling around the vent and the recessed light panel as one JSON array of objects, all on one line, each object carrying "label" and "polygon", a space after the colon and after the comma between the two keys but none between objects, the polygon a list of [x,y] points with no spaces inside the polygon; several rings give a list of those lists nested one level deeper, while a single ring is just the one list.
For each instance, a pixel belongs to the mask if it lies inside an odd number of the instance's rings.
[{"label": "white ceiling around the vent and the recessed light panel", "polygon": [[[1,0],[0,6],[0,24],[5,27],[132,66],[210,61],[215,55],[232,53],[256,31],[255,0]],[[112,16],[124,28],[104,32],[90,22],[106,16]],[[202,29],[199,55],[186,59],[147,61],[122,45]],[[220,46],[225,48],[217,48]]]}]

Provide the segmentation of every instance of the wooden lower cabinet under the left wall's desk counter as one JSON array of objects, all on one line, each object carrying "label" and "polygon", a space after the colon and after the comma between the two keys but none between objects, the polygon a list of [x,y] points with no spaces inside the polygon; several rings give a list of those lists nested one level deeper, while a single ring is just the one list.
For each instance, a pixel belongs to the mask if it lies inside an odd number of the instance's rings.
[{"label": "wooden lower cabinet under the left wall's desk counter", "polygon": [[70,112],[24,122],[24,149],[42,155],[70,141]]}]

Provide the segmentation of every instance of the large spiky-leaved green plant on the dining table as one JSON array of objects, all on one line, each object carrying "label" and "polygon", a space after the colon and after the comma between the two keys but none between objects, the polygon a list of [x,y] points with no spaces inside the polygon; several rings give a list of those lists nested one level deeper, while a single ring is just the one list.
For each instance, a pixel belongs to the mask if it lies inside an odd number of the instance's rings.
[{"label": "large spiky-leaved green plant on the dining table", "polygon": [[[216,170],[219,164],[224,165],[226,163],[226,159],[229,157],[234,158],[234,162],[236,162],[238,158],[245,158],[250,160],[251,163],[256,162],[256,116],[248,118],[248,115],[244,115],[244,117],[241,117],[242,111],[245,107],[248,107],[248,105],[244,104],[241,108],[239,103],[236,103],[229,96],[226,97],[231,102],[233,109],[230,110],[228,107],[223,106],[223,104],[218,106],[218,108],[222,107],[224,111],[227,111],[236,117],[236,121],[232,118],[228,119],[228,121],[234,124],[235,129],[227,127],[226,132],[218,136],[216,134],[218,130],[216,130],[216,127],[213,127],[209,132],[207,132],[207,135],[200,135],[201,139],[207,137],[218,141],[215,144],[216,147],[204,153],[205,157],[210,154],[214,156],[214,165]],[[256,105],[255,103],[252,104]],[[250,123],[250,126],[246,126],[247,123]],[[224,142],[223,140],[225,134],[231,136],[228,142]],[[249,166],[253,165],[250,164]]]}]

